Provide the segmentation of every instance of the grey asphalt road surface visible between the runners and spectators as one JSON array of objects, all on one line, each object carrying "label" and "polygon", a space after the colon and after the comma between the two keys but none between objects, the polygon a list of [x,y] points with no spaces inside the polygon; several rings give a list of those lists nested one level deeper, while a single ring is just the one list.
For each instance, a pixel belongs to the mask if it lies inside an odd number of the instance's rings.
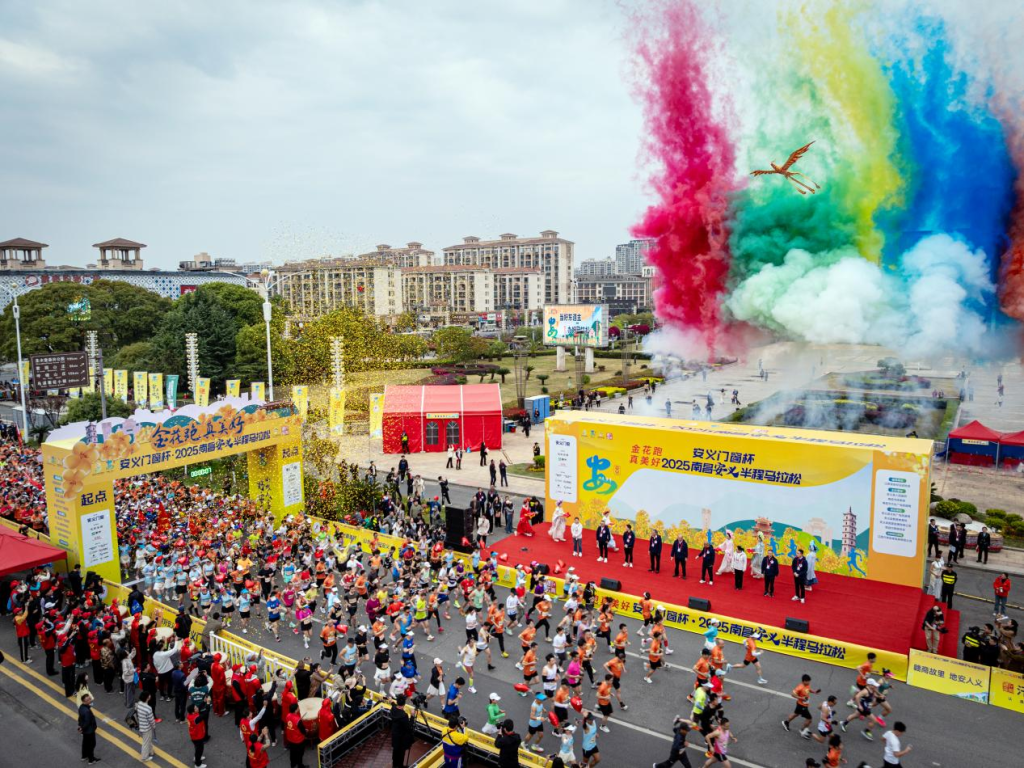
[{"label": "grey asphalt road surface visible between the runners and spectators", "polygon": [[[964,571],[962,586],[970,586],[971,574]],[[988,584],[988,574],[978,574],[979,583]],[[500,595],[504,597],[504,590]],[[655,596],[656,597],[656,596]],[[965,602],[965,601],[962,601]],[[974,601],[971,601],[972,603]],[[980,610],[981,603],[975,610]],[[990,609],[989,609],[990,611]],[[434,642],[428,642],[422,636],[418,638],[418,660],[421,672],[429,670],[432,658],[436,655],[443,658],[449,680],[459,674],[455,669],[455,659],[459,645],[465,640],[465,634],[458,613],[454,612],[451,623],[446,623],[447,631]],[[979,613],[980,615],[980,613]],[[1015,612],[1016,615],[1016,612]],[[860,616],[853,621],[885,621],[884,616]],[[625,620],[630,627],[631,637],[637,623]],[[301,637],[286,632],[282,642],[274,642],[272,636],[267,636],[262,626],[253,623],[254,629],[247,636],[249,640],[262,643],[276,651],[284,652],[295,658],[307,654],[313,657],[318,652],[318,643],[310,651],[303,648]],[[511,633],[508,633],[511,636]],[[688,713],[689,706],[685,701],[686,693],[692,686],[693,675],[689,667],[699,654],[701,639],[689,633],[672,632],[670,644],[675,653],[668,656],[667,669],[654,676],[650,685],[642,681],[642,662],[639,657],[629,658],[628,671],[624,682],[623,697],[629,705],[626,712],[615,711],[611,721],[611,733],[601,733],[599,745],[602,762],[609,766],[646,766],[668,756],[673,717],[678,713]],[[521,674],[515,669],[517,660],[515,649],[518,644],[514,639],[508,643],[513,653],[504,659],[495,649],[494,672],[487,672],[485,665],[478,665],[476,672],[477,693],[466,693],[463,698],[463,714],[469,718],[471,725],[479,728],[485,722],[484,710],[487,694],[492,691],[502,696],[502,705],[508,715],[515,719],[520,732],[525,732],[526,713],[530,699],[518,696],[512,685],[520,680]],[[13,631],[8,622],[0,626],[0,647],[8,658],[16,658]],[[544,644],[542,643],[542,650]],[[637,651],[634,642],[631,651]],[[737,660],[738,647],[730,644],[727,656]],[[603,664],[608,658],[604,650],[598,652],[598,662]],[[849,670],[826,665],[805,662],[767,651],[762,656],[765,677],[768,683],[759,686],[756,676],[751,671],[735,670],[726,678],[726,690],[733,696],[726,705],[726,714],[730,718],[738,741],[732,755],[733,763],[739,766],[763,766],[765,768],[790,768],[803,766],[808,757],[820,759],[822,750],[815,742],[805,741],[796,732],[785,732],[779,721],[793,711],[793,699],[790,691],[804,673],[813,678],[813,685],[820,687],[822,693],[814,696],[812,705],[817,705],[828,693],[835,693],[841,701],[847,698],[849,686],[854,674]],[[4,672],[10,671],[14,665],[4,665]],[[41,659],[32,665],[38,672],[42,671]],[[372,680],[371,664],[364,665],[364,671]],[[19,677],[27,677],[20,672]],[[39,684],[38,680],[30,682]],[[425,689],[425,684],[420,686]],[[57,691],[47,691],[53,699],[62,700],[62,694]],[[94,691],[95,692],[95,691]],[[907,766],[1004,766],[1015,764],[1019,759],[1019,740],[1012,734],[1016,728],[1024,724],[1021,716],[994,707],[971,703],[949,696],[931,693],[929,691],[910,688],[897,684],[890,700],[894,713],[891,720],[902,720],[908,725],[905,742],[913,744],[913,752],[903,763]],[[585,685],[585,706],[594,705],[593,691]],[[161,714],[166,714],[168,705],[160,702]],[[120,699],[117,695],[106,696],[98,693],[97,708],[104,714],[117,717],[122,713]],[[438,712],[436,701],[431,702],[431,711]],[[840,707],[841,713],[848,712]],[[69,757],[78,756],[78,736],[75,732],[75,722],[67,714],[55,710],[51,702],[40,699],[28,691],[7,675],[0,674],[0,738],[7,744],[31,744],[32,753],[41,765],[60,765]],[[159,730],[160,745],[169,756],[183,764],[191,763],[191,748],[184,736],[182,726],[177,726],[172,720],[165,720]],[[207,763],[210,768],[215,766],[236,766],[242,758],[241,746],[233,733],[230,719],[216,720],[212,724],[213,739]],[[881,734],[880,734],[881,735]],[[123,739],[123,734],[115,733],[114,737]],[[691,737],[692,738],[692,737]],[[880,740],[868,743],[863,740],[853,728],[845,736],[846,757],[849,765],[855,766],[860,761],[866,761],[870,766],[882,764],[882,745]],[[557,748],[555,739],[549,734],[543,745],[550,752]],[[579,751],[579,743],[578,743]],[[287,764],[287,756],[282,748],[272,751],[272,764]],[[123,751],[104,740],[100,740],[99,751],[104,761],[112,765],[128,765],[131,758]],[[1014,755],[1018,757],[1015,758]],[[700,765],[701,757],[697,750],[690,754],[691,762]],[[158,759],[167,764],[167,760]],[[308,762],[308,761],[307,761]],[[0,757],[0,765],[13,765]]]}]

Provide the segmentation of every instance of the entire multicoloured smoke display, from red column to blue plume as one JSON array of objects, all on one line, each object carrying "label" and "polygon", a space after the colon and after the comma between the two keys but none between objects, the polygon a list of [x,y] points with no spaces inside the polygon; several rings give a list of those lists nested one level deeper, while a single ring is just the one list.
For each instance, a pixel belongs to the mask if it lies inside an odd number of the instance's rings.
[{"label": "entire multicoloured smoke display, from red column to blue plume", "polygon": [[[822,7],[783,16],[780,35],[764,36],[778,50],[770,62],[744,49],[754,87],[749,123],[727,123],[735,151],[725,118],[716,120],[716,96],[735,89],[713,87],[693,6],[660,6],[668,39],[638,46],[648,148],[662,172],[657,205],[636,231],[657,238],[663,347],[694,335],[714,347],[724,329],[729,341],[762,329],[918,357],[1005,353],[997,307],[1024,318],[1019,104],[1001,122],[993,116],[991,76],[973,57],[954,63],[941,19],[876,12],[868,45],[866,14]],[[797,170],[821,184],[817,195],[778,176],[735,180],[812,139]]]}]

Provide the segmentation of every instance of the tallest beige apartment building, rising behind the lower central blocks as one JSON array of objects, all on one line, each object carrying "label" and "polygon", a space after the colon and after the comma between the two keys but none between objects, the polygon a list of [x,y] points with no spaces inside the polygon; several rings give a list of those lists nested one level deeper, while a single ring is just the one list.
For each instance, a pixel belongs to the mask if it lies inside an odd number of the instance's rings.
[{"label": "tallest beige apartment building, rising behind the lower central blocks", "polygon": [[511,232],[498,240],[467,237],[443,253],[445,265],[539,268],[544,275],[544,303],[567,304],[572,301],[573,247],[554,229],[545,229],[540,238],[519,238]]}]

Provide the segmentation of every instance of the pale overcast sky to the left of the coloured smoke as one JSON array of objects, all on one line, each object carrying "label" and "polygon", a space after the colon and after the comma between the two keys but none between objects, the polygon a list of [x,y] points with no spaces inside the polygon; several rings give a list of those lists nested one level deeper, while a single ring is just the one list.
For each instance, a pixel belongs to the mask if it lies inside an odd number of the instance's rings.
[{"label": "pale overcast sky to the left of the coloured smoke", "polygon": [[557,229],[644,205],[613,0],[0,7],[0,240],[275,261]]}]

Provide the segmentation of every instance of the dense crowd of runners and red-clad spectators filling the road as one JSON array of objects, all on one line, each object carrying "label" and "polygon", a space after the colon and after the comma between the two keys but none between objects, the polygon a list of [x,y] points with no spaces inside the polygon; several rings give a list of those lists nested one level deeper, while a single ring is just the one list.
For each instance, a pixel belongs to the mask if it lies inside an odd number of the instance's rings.
[{"label": "dense crowd of runners and red-clad spectators filling the road", "polygon": [[[31,466],[31,455],[17,451],[8,446],[5,462]],[[36,488],[24,480],[11,485],[9,473],[4,476],[9,512],[12,501],[31,498]],[[563,590],[537,563],[514,565],[514,585],[500,587],[497,555],[478,548],[469,558],[457,557],[444,549],[442,530],[422,518],[392,526],[411,535],[392,553],[376,540],[370,552],[346,545],[331,524],[301,517],[275,522],[242,497],[166,477],[119,482],[116,507],[123,575],[132,585],[125,604],[104,605],[102,586],[80,570],[58,578],[43,568],[4,601],[23,660],[42,649],[47,672],[61,676],[80,706],[88,708],[100,686],[123,692],[143,733],[143,758],[152,755],[144,735],[167,709],[188,728],[200,768],[207,719],[228,714],[249,768],[266,765],[279,735],[299,768],[310,739],[329,736],[365,711],[373,688],[445,719],[449,765],[460,764],[468,725],[495,736],[503,765],[517,765],[522,746],[553,765],[592,767],[601,761],[601,734],[616,727],[616,712],[627,711],[646,685],[662,683],[679,689],[687,711],[676,719],[671,753],[657,766],[690,765],[690,743],[705,750],[705,766],[728,768],[738,740],[726,714],[728,681],[756,675],[757,683],[767,682],[757,633],[745,639],[742,657],[730,662],[736,646],[718,637],[713,620],[699,655],[681,665],[692,670],[690,685],[678,673],[667,675],[675,649],[667,611],[650,594],[641,601],[643,626],[631,632],[616,621],[611,599],[599,598],[595,584],[581,582],[571,567]],[[141,608],[150,597],[176,611],[173,633],[146,627]],[[193,617],[206,620],[198,643],[188,640]],[[288,676],[275,677],[260,656],[231,668],[209,652],[210,635],[221,629],[243,636],[258,631],[270,642],[291,633],[309,654]],[[457,657],[431,651],[443,632],[457,633]],[[419,660],[424,653],[433,664]],[[499,665],[514,665],[521,680],[511,690],[481,692],[480,668]],[[857,670],[846,716],[837,705],[843,695],[831,692],[819,701],[820,691],[805,675],[782,726],[820,744],[808,749],[820,754],[808,758],[808,766],[841,765],[844,735],[859,729],[873,739],[876,728],[884,730],[884,760],[897,765],[910,748],[905,726],[886,722],[891,689],[891,675],[869,656]],[[460,705],[475,695],[487,696],[486,722],[467,724]],[[501,701],[509,695],[529,699],[525,723],[506,716]],[[316,696],[323,703],[310,725],[298,703]]]}]

